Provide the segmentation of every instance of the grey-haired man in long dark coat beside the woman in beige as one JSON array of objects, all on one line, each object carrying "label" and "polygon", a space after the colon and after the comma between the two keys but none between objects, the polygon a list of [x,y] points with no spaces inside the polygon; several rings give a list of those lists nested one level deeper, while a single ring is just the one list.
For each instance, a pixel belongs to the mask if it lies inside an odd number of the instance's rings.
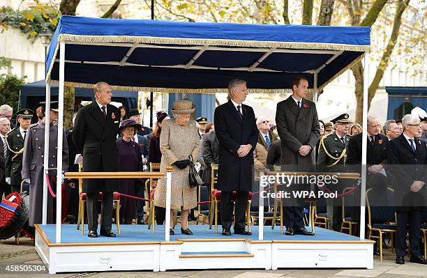
[{"label": "grey-haired man in long dark coat beside the woman in beige", "polygon": [[232,79],[228,84],[231,100],[216,107],[214,115],[216,137],[219,141],[218,190],[221,190],[220,215],[223,235],[231,235],[232,192],[237,192],[234,233],[251,235],[245,230],[248,193],[253,184],[253,150],[257,145],[258,128],[252,107],[242,105],[248,89],[246,82]]}]

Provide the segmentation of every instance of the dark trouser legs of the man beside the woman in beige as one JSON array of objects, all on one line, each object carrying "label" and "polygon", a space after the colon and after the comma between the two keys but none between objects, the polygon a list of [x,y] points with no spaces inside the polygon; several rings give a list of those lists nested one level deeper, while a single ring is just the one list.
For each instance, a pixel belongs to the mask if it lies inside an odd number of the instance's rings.
[{"label": "dark trouser legs of the man beside the woman in beige", "polygon": [[[249,192],[237,191],[234,206],[234,231],[243,231],[246,227],[246,207],[248,206]],[[232,192],[221,192],[220,215],[223,229],[231,229],[232,226]]]}]

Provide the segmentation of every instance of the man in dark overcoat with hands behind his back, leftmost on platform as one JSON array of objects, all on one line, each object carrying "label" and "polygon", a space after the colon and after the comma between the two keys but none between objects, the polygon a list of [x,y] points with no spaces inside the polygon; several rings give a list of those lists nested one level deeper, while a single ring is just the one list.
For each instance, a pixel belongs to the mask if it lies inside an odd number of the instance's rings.
[{"label": "man in dark overcoat with hands behind his back, leftmost on platform", "polygon": [[[96,101],[80,109],[75,118],[73,141],[83,156],[84,172],[114,172],[118,169],[116,137],[119,131],[120,111],[110,105],[112,90],[105,82],[94,88]],[[82,191],[87,192],[87,219],[89,238],[98,237],[98,194],[103,193],[100,235],[115,237],[111,231],[112,197],[119,190],[118,180],[83,180]],[[119,219],[116,219],[119,221]]]}]

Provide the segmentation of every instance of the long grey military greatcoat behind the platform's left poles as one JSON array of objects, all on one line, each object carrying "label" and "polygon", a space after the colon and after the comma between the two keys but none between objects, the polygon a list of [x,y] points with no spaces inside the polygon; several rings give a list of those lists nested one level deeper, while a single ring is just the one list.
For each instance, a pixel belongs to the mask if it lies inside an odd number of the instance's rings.
[{"label": "long grey military greatcoat behind the platform's left poles", "polygon": [[[50,125],[49,168],[57,167],[58,127]],[[68,171],[68,144],[63,132],[62,171]],[[37,123],[29,128],[22,157],[22,179],[30,179],[29,225],[41,224],[43,215],[43,162],[45,154],[45,123]],[[51,176],[57,176],[57,170],[49,170]],[[52,190],[56,186],[50,181]],[[54,223],[53,198],[47,193],[47,223]]]}]

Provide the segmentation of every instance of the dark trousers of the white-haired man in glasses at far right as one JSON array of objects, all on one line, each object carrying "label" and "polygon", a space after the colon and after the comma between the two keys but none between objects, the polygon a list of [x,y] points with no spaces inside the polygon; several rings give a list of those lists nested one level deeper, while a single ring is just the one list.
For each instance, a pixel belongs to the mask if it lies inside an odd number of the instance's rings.
[{"label": "dark trousers of the white-haired man in glasses at far right", "polygon": [[419,251],[419,227],[421,212],[418,210],[396,212],[396,256],[406,254],[406,224],[409,224],[411,256],[421,256]]}]

